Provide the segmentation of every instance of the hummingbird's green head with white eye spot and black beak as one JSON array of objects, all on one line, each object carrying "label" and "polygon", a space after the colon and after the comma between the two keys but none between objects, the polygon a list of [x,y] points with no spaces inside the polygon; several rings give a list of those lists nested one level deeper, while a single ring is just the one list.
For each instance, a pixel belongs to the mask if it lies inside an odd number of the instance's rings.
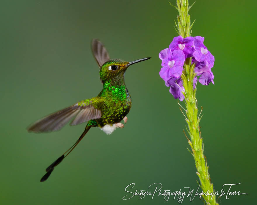
[{"label": "hummingbird's green head with white eye spot and black beak", "polygon": [[100,79],[103,83],[111,79],[123,79],[124,74],[130,65],[145,61],[147,59],[150,58],[138,59],[131,62],[123,61],[120,59],[110,59],[101,66]]}]

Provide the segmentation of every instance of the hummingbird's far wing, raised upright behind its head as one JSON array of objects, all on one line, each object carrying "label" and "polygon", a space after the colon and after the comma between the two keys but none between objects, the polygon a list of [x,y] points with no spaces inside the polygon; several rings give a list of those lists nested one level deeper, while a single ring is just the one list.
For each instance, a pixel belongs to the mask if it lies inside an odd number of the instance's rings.
[{"label": "hummingbird's far wing, raised upright behind its head", "polygon": [[92,52],[100,68],[106,61],[110,60],[110,57],[106,48],[97,39],[92,40]]}]

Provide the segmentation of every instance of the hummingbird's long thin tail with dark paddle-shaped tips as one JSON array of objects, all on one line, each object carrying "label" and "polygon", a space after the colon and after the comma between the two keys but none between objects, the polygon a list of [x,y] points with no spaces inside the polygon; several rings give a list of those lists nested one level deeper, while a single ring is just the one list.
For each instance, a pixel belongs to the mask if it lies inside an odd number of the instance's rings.
[{"label": "hummingbird's long thin tail with dark paddle-shaped tips", "polygon": [[80,135],[79,139],[70,147],[70,149],[68,149],[65,153],[63,153],[62,156],[60,156],[49,167],[46,168],[46,174],[41,178],[41,180],[40,180],[41,182],[46,181],[48,179],[50,174],[53,172],[54,167],[56,167],[58,164],[60,164],[62,162],[62,160],[70,154],[70,152],[77,146],[77,144],[79,144],[81,139],[86,135],[86,133],[88,132],[88,130],[90,128],[91,128],[91,126],[87,125],[84,132]]}]

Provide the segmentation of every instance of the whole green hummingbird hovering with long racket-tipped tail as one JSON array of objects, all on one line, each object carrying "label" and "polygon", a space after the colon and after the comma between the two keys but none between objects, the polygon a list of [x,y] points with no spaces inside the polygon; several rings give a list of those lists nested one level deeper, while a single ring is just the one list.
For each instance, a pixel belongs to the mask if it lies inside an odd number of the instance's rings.
[{"label": "whole green hummingbird hovering with long racket-tipped tail", "polygon": [[41,182],[48,179],[54,167],[67,157],[91,127],[99,127],[108,135],[116,128],[124,127],[121,121],[127,122],[126,115],[131,108],[131,97],[124,81],[125,72],[130,65],[150,59],[148,57],[131,62],[110,59],[106,48],[97,39],[92,40],[92,52],[100,67],[100,80],[103,84],[103,89],[98,96],[82,100],[50,114],[32,123],[27,128],[28,132],[51,132],[60,130],[72,119],[71,126],[87,122],[86,128],[79,139],[46,168],[46,174],[41,178]]}]

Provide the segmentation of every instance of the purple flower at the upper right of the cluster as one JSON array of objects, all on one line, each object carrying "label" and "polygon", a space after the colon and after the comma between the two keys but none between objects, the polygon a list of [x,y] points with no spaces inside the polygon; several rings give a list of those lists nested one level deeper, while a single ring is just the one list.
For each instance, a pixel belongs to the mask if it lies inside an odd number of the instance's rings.
[{"label": "purple flower at the upper right of the cluster", "polygon": [[194,37],[194,48],[195,52],[193,53],[193,56],[195,60],[197,60],[198,62],[206,61],[212,68],[214,65],[214,56],[208,51],[208,49],[204,45],[204,37]]}]

